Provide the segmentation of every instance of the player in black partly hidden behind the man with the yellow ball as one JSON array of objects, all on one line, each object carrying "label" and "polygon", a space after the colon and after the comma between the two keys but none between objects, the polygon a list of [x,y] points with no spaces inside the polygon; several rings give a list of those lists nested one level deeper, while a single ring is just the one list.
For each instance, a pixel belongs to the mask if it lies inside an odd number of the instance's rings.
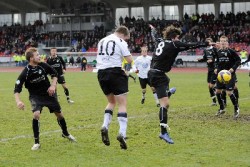
[{"label": "player in black partly hidden behind the man with the yellow ball", "polygon": [[[207,38],[206,41],[213,42],[212,38]],[[207,62],[207,83],[210,97],[212,98],[211,106],[216,106],[216,95],[215,95],[215,83],[216,83],[216,74],[214,73],[214,62],[215,62],[215,48],[211,45],[204,49],[203,58],[198,59],[199,62]]]}]

